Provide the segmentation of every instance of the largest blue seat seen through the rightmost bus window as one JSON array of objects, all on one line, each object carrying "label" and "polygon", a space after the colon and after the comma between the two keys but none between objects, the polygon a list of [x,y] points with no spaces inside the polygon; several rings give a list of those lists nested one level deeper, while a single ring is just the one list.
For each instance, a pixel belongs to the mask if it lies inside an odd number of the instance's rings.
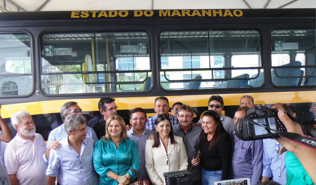
[{"label": "largest blue seat seen through the rightmost bus window", "polygon": [[[285,66],[301,66],[300,61],[294,61],[289,64],[281,65],[282,67]],[[272,70],[272,83],[277,86],[296,86],[297,85],[297,79],[300,75],[301,67],[298,68],[283,68],[283,69],[273,69]],[[277,76],[276,76],[277,75]],[[280,78],[280,77],[286,77],[286,78]],[[291,76],[296,76],[293,78],[290,78]]]}]

